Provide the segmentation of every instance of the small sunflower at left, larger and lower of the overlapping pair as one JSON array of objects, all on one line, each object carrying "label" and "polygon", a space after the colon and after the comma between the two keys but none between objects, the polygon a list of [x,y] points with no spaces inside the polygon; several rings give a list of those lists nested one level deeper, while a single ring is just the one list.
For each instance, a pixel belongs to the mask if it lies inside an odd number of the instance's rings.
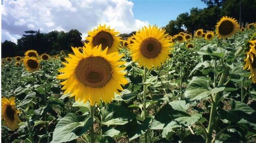
[{"label": "small sunflower at left, larger and lower of the overlapping pair", "polygon": [[24,59],[24,65],[30,72],[37,71],[39,69],[39,62],[35,57],[27,57]]}]

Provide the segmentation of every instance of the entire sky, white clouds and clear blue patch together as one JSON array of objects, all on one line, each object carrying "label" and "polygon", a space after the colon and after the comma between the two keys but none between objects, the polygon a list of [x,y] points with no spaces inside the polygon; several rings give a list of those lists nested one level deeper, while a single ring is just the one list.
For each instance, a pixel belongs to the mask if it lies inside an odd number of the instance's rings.
[{"label": "entire sky, white clouds and clear blue patch together", "polygon": [[69,32],[77,29],[84,39],[99,24],[120,33],[131,33],[148,24],[165,26],[193,7],[205,8],[200,0],[44,0],[2,1],[2,41],[17,42],[24,31]]}]

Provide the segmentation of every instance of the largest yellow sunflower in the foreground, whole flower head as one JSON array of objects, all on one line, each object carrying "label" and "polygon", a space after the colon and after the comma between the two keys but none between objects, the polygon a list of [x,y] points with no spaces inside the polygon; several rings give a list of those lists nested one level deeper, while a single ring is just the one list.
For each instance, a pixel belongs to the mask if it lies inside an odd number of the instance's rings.
[{"label": "largest yellow sunflower in the foreground, whole flower head", "polygon": [[101,50],[101,45],[92,48],[90,45],[83,47],[83,53],[77,48],[73,48],[74,55],[69,54],[63,63],[66,67],[60,69],[63,74],[58,75],[57,79],[66,79],[61,82],[64,93],[75,96],[76,101],[87,102],[91,105],[103,102],[111,102],[114,92],[122,91],[120,84],[126,84],[127,80],[122,66],[125,62],[119,60],[123,55],[118,52],[107,54],[108,48]]}]

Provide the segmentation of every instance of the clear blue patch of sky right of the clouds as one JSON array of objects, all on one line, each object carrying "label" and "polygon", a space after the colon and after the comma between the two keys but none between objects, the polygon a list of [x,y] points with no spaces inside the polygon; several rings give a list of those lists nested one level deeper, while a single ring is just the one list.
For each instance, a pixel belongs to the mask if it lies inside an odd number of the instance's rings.
[{"label": "clear blue patch of sky right of the clouds", "polygon": [[146,20],[150,24],[157,24],[159,26],[165,26],[170,20],[175,20],[181,13],[189,13],[193,7],[206,7],[200,0],[133,0],[132,2],[134,3],[133,12],[136,19]]}]

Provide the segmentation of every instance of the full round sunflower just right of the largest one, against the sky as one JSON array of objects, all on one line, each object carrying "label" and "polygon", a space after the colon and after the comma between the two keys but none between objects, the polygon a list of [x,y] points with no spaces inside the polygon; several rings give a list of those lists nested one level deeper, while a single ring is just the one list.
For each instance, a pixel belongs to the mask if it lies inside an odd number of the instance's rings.
[{"label": "full round sunflower just right of the largest one, against the sky", "polygon": [[164,33],[164,29],[155,25],[144,26],[139,30],[134,36],[134,43],[130,46],[133,61],[149,69],[160,67],[168,58],[169,46],[172,45],[166,38],[168,34]]}]

